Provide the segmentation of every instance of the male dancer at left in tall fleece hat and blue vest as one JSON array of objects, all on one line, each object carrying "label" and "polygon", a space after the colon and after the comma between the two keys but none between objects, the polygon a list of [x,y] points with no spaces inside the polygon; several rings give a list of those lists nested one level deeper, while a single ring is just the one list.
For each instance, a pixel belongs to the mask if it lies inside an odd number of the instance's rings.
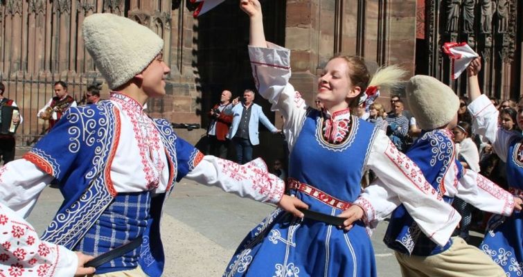
[{"label": "male dancer at left in tall fleece hat and blue vest", "polygon": [[[24,159],[0,170],[0,199],[27,215],[53,179],[64,203],[43,237],[92,256],[137,246],[96,267],[103,276],[161,276],[159,220],[175,181],[186,177],[258,201],[278,203],[303,217],[303,202],[283,195],[283,181],[260,159],[240,166],[205,156],[177,138],[166,120],[143,112],[165,91],[169,73],[163,40],[152,30],[112,14],[87,17],[87,51],[114,91],[109,100],[72,107]],[[131,245],[132,245],[131,244]],[[114,253],[114,251],[113,251]]]}]

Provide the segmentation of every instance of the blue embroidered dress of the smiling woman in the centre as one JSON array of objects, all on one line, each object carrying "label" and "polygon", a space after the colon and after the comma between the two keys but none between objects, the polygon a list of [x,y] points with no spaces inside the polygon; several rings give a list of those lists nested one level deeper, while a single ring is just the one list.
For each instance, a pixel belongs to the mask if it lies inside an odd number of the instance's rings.
[{"label": "blue embroidered dress of the smiling woman in the centre", "polygon": [[[360,195],[362,168],[375,128],[350,114],[346,118],[351,119],[344,123],[351,126],[342,143],[335,145],[323,136],[326,126],[321,111],[309,110],[290,154],[289,176],[344,202],[354,202]],[[342,213],[299,190],[291,193],[312,211]],[[362,222],[345,232],[324,222],[292,217],[278,208],[242,241],[224,276],[376,276],[376,269]]]}]

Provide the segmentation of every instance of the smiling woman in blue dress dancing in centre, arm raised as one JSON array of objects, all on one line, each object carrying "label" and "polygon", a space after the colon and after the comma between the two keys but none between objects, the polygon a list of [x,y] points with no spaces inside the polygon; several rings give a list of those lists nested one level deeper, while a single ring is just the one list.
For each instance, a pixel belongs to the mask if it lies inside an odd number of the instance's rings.
[{"label": "smiling woman in blue dress dancing in centre, arm raised", "polygon": [[277,209],[243,240],[224,276],[376,276],[366,227],[375,226],[396,206],[388,199],[371,204],[358,198],[367,168],[414,213],[425,233],[439,244],[447,242],[459,215],[438,199],[419,168],[382,130],[349,110],[369,84],[370,94],[397,83],[404,71],[384,70],[369,83],[361,58],[334,57],[319,78],[317,98],[324,108],[312,109],[288,82],[290,51],[265,42],[258,0],[241,0],[240,6],[251,21],[249,55],[258,91],[285,119],[290,193],[308,204],[309,211],[348,218],[339,225],[351,230],[313,220],[309,212],[302,219]]}]

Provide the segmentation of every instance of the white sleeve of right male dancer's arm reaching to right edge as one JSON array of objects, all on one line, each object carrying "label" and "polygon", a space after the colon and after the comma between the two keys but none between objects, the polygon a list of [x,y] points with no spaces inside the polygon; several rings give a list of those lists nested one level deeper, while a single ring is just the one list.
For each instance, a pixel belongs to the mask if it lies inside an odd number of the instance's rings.
[{"label": "white sleeve of right male dancer's arm reaching to right edge", "polygon": [[458,181],[457,190],[457,197],[481,211],[506,216],[512,214],[513,195],[477,172],[466,170],[465,175]]}]

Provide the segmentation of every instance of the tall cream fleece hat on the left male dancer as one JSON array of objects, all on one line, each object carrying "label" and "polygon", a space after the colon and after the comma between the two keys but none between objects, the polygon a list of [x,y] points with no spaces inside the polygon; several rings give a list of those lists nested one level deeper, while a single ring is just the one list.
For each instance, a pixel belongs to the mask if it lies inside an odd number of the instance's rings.
[{"label": "tall cream fleece hat on the left male dancer", "polygon": [[163,39],[149,28],[110,13],[86,17],[82,32],[85,48],[109,89],[141,73],[163,48]]}]

